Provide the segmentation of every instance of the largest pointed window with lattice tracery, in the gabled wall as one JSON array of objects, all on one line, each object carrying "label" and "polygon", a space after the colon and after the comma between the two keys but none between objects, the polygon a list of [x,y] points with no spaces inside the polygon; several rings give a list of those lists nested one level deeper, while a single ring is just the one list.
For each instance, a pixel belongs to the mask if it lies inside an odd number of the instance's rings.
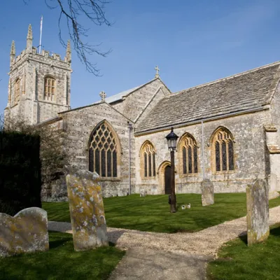
[{"label": "largest pointed window with lattice tracery, in the gabled wall", "polygon": [[90,137],[90,171],[100,177],[118,177],[116,138],[106,123],[99,125]]}]

